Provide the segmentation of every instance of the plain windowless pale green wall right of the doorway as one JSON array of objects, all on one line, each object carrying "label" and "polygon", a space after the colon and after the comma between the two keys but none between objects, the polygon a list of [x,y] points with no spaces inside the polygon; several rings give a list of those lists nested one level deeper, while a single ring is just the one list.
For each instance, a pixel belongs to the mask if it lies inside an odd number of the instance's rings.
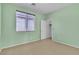
[{"label": "plain windowless pale green wall right of the doorway", "polygon": [[65,7],[51,17],[54,40],[79,48],[79,4]]}]

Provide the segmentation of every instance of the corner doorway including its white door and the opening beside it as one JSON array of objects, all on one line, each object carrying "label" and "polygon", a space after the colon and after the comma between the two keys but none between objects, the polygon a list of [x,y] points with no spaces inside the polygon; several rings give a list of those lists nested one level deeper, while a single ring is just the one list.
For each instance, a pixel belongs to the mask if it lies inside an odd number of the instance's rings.
[{"label": "corner doorway including its white door and the opening beside it", "polygon": [[41,20],[41,40],[43,39],[52,39],[52,24],[48,20]]}]

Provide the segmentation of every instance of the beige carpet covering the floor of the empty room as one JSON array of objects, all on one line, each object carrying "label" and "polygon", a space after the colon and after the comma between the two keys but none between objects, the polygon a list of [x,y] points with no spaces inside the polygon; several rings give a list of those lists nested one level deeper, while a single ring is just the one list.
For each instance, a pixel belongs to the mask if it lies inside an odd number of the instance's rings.
[{"label": "beige carpet covering the floor of the empty room", "polygon": [[54,42],[51,39],[40,40],[4,49],[1,55],[72,55],[79,54],[78,48]]}]

